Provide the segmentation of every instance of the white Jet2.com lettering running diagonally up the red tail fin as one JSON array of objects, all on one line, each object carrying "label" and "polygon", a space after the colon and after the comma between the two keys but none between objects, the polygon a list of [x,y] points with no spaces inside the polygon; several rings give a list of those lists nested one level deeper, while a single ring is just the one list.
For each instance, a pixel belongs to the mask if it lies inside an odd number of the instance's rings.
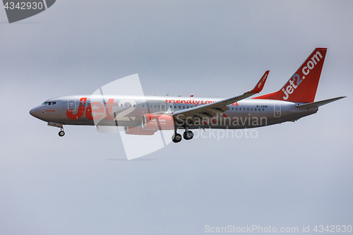
[{"label": "white Jet2.com lettering running diagonally up the red tail fin", "polygon": [[[301,72],[304,74],[304,76],[300,78],[299,74],[296,73],[291,79],[289,79],[290,84],[287,85],[287,88],[282,88],[282,92],[285,93],[283,100],[288,100],[289,95],[292,94],[294,90],[299,87],[300,83],[305,79],[305,76],[307,76],[310,73],[310,71],[316,66],[316,64],[318,64],[321,58],[323,58],[321,53],[316,52],[316,54],[314,54],[313,57],[311,57],[311,60],[309,60],[308,63],[306,63],[306,66],[304,66],[301,69]],[[296,81],[295,84],[294,84],[294,81]]]}]

